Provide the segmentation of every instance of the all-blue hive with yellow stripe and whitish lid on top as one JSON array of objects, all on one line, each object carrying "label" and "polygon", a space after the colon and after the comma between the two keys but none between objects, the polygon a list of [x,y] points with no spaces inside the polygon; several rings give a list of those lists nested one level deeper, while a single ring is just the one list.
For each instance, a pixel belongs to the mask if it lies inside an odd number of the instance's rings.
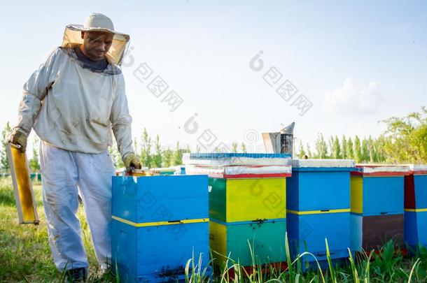
[{"label": "all-blue hive with yellow stripe and whitish lid on top", "polygon": [[[325,238],[332,261],[348,257],[350,171],[354,161],[302,159],[292,162],[292,177],[287,178],[286,183],[288,240],[293,258],[311,252],[325,267]],[[303,256],[302,261],[304,270],[315,263],[312,256]]]}]

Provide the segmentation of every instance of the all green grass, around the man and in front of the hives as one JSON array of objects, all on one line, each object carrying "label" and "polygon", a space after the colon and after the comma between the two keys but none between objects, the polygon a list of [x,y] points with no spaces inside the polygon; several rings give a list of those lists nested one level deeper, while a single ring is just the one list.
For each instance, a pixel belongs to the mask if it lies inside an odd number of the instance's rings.
[{"label": "all green grass, around the man and in front of the hives", "polygon": [[[0,282],[64,282],[64,276],[53,265],[50,254],[40,183],[34,183],[34,194],[40,225],[19,225],[10,179],[0,179]],[[102,275],[97,269],[92,240],[81,205],[78,217],[82,224],[83,241],[90,263],[88,282],[117,282],[111,273]],[[327,241],[325,247],[328,247]],[[212,251],[211,257],[215,256],[216,253]],[[308,273],[301,272],[302,262],[299,259],[290,259],[287,240],[286,256],[291,264],[285,271],[272,267],[262,270],[257,266],[255,256],[253,273],[246,272],[233,259],[229,259],[228,263],[235,268],[234,282],[427,282],[427,251],[424,249],[417,256],[404,257],[395,254],[393,242],[381,247],[379,255],[372,253],[369,256],[352,256],[349,252],[347,266],[337,267],[332,261],[328,261],[327,270],[316,268]],[[205,264],[200,260],[197,254],[188,260],[185,268],[186,282],[231,281],[225,266],[214,266],[214,275],[211,279],[206,277],[206,268],[201,268]]]}]

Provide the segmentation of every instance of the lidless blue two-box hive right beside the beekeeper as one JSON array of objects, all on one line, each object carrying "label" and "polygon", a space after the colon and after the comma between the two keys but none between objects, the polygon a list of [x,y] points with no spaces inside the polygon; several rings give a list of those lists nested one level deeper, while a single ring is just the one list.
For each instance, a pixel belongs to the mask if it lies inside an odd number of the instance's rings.
[{"label": "lidless blue two-box hive right beside the beekeeper", "polygon": [[120,280],[183,280],[188,259],[196,265],[200,257],[197,268],[207,268],[207,175],[113,177],[112,193],[112,261]]}]

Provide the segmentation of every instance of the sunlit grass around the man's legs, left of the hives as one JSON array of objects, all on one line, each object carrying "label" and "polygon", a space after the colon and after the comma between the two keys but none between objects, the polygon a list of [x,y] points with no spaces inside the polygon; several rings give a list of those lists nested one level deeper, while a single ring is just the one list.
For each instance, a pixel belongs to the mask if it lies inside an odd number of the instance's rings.
[{"label": "sunlit grass around the man's legs, left of the hives", "polygon": [[[43,210],[41,184],[33,183],[40,225],[18,224],[18,212],[10,179],[0,180],[0,282],[62,282],[64,276],[53,264]],[[83,206],[78,208],[83,242],[90,263],[90,281],[108,282],[100,275]]]}]

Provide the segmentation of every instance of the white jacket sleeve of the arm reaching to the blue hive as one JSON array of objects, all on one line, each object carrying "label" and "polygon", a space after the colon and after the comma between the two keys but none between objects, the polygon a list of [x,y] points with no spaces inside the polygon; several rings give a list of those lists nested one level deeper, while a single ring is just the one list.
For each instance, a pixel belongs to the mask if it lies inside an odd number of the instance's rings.
[{"label": "white jacket sleeve of the arm reaching to the blue hive", "polygon": [[117,94],[111,107],[110,121],[120,156],[123,159],[125,155],[134,153],[134,149],[132,147],[132,117],[129,115],[127,106],[125,79],[123,78],[123,73],[118,76]]}]

